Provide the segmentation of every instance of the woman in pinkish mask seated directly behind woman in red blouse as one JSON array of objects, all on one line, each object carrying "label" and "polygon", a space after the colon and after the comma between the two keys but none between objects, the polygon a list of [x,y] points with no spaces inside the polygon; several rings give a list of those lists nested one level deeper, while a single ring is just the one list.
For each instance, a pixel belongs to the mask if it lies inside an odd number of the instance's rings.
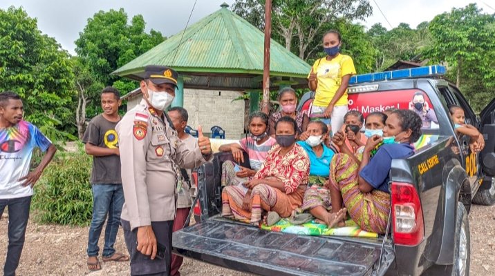
[{"label": "woman in pinkish mask seated directly behind woman in red blouse", "polygon": [[275,123],[279,121],[281,117],[288,116],[295,119],[297,123],[297,134],[300,135],[302,132],[306,131],[309,124],[309,117],[306,112],[297,111],[297,95],[296,91],[290,87],[283,88],[279,92],[279,103],[282,108],[279,112],[274,112],[270,115],[270,136],[275,136]]}]

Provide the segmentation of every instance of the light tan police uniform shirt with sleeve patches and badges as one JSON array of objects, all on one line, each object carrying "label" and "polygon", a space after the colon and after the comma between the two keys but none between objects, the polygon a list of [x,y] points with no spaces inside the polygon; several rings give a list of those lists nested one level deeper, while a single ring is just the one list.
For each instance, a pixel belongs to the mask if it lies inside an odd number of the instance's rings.
[{"label": "light tan police uniform shirt with sleeve patches and badges", "polygon": [[177,172],[172,166],[196,168],[205,163],[200,148],[180,141],[167,119],[158,117],[142,99],[115,128],[120,144],[125,203],[121,218],[131,230],[151,221],[175,217]]}]

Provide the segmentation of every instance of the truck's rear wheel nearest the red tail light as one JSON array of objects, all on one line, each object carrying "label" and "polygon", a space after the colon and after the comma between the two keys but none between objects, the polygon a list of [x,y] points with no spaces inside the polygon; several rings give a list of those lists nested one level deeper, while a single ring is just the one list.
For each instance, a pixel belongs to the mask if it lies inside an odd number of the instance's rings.
[{"label": "truck's rear wheel nearest the red tail light", "polygon": [[454,247],[453,276],[469,275],[469,263],[471,260],[471,241],[469,234],[469,220],[464,205],[457,204],[456,218],[456,246]]}]

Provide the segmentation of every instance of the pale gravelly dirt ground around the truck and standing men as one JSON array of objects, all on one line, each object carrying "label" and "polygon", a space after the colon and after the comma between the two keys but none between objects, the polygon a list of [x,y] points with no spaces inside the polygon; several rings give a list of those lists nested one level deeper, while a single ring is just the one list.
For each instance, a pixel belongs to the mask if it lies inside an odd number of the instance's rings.
[{"label": "pale gravelly dirt ground around the truck and standing men", "polygon": [[[495,206],[473,206],[471,228],[471,275],[495,275]],[[7,219],[0,220],[0,264],[7,250]],[[129,275],[129,263],[103,263],[102,270],[86,268],[87,227],[39,225],[30,221],[17,275]],[[100,248],[102,248],[100,239]],[[118,252],[126,253],[122,231],[116,242]],[[203,262],[186,259],[181,275],[249,275]]]}]

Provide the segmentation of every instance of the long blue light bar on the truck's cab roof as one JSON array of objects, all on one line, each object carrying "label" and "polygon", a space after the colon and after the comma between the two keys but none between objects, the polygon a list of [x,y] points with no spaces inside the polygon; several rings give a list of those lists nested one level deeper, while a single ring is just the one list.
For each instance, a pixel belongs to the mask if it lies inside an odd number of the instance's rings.
[{"label": "long blue light bar on the truck's cab roof", "polygon": [[349,84],[366,83],[374,81],[386,81],[389,79],[409,79],[418,77],[433,77],[445,75],[447,69],[445,66],[432,65],[418,68],[393,70],[386,72],[376,72],[363,75],[355,75],[349,80]]}]

